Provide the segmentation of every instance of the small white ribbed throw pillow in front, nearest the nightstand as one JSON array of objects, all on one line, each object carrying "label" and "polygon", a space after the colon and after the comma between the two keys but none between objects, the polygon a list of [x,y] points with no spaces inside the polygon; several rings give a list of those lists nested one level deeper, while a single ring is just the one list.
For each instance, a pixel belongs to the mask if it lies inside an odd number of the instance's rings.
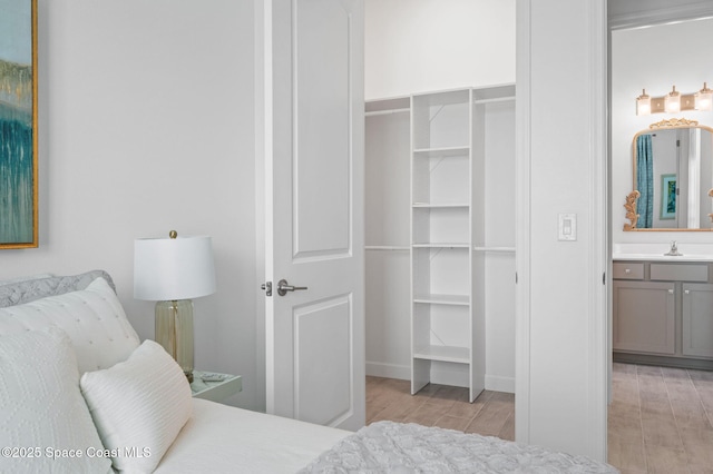
[{"label": "small white ribbed throw pillow in front, nearest the nightstand", "polygon": [[193,411],[186,376],[153,340],[126,362],[85,373],[79,385],[104,445],[118,450],[120,471],[154,471]]}]

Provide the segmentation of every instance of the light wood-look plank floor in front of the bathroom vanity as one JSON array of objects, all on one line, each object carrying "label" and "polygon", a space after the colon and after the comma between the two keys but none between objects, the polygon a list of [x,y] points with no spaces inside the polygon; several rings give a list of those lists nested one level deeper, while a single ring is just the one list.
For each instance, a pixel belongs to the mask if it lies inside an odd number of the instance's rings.
[{"label": "light wood-look plank floor in front of the bathroom vanity", "polygon": [[713,373],[614,364],[609,464],[622,474],[713,473]]}]

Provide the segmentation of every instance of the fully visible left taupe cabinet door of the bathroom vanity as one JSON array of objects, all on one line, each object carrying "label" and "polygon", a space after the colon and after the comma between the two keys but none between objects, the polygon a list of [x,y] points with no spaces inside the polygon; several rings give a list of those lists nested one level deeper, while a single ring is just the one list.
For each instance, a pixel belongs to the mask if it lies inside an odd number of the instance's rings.
[{"label": "fully visible left taupe cabinet door of the bathroom vanity", "polygon": [[614,282],[614,349],[675,352],[673,283]]}]

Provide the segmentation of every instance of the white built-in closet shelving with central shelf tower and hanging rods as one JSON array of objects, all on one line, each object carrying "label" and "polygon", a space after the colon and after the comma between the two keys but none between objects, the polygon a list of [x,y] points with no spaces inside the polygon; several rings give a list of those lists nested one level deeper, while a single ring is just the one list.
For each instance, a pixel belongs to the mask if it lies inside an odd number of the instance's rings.
[{"label": "white built-in closet shelving with central shelf tower and hanging rods", "polygon": [[514,392],[515,87],[367,103],[367,373]]}]

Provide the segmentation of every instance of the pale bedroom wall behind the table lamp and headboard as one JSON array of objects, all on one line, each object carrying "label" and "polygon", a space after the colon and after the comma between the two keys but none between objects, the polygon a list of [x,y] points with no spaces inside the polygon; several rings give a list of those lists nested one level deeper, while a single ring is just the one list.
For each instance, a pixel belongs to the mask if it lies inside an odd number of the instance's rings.
[{"label": "pale bedroom wall behind the table lamp and headboard", "polygon": [[0,278],[104,268],[141,338],[134,239],[211,235],[217,293],[195,302],[196,366],[255,383],[253,2],[39,0],[40,246]]}]

